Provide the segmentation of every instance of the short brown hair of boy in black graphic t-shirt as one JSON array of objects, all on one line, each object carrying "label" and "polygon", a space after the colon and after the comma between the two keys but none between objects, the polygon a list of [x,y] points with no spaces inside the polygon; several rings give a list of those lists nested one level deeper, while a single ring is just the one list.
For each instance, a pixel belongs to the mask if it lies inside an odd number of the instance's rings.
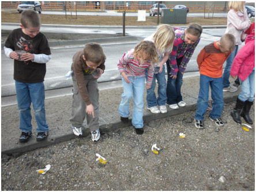
[{"label": "short brown hair of boy in black graphic t-shirt", "polygon": [[39,14],[31,9],[22,11],[20,15],[20,22],[24,28],[41,26]]}]

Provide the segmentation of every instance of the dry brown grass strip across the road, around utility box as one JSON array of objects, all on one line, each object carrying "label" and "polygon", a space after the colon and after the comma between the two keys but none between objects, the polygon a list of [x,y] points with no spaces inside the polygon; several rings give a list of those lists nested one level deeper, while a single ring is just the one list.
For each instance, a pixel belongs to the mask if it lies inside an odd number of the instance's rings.
[{"label": "dry brown grass strip across the road, around utility box", "polygon": [[[1,12],[2,22],[17,22],[20,23],[20,14],[17,12]],[[63,24],[63,25],[123,25],[122,16],[70,16],[67,15],[50,15],[41,14],[42,24]],[[254,22],[254,18],[251,21]],[[187,24],[197,22],[200,25],[227,25],[227,18],[202,18],[202,17],[187,17]],[[161,17],[160,17],[161,23]],[[137,21],[137,17],[126,17],[125,24],[130,25],[157,25],[157,17],[146,17],[146,21]],[[175,26],[185,24],[173,24]]]}]

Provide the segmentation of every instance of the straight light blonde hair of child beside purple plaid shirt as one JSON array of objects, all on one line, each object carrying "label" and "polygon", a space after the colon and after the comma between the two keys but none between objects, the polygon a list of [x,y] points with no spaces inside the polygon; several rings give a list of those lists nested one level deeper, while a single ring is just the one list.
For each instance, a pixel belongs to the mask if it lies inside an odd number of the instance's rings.
[{"label": "straight light blonde hair of child beside purple plaid shirt", "polygon": [[156,33],[153,36],[157,51],[163,54],[165,50],[168,49],[168,47],[170,47],[172,51],[174,38],[175,33],[171,25],[159,25],[157,27]]}]

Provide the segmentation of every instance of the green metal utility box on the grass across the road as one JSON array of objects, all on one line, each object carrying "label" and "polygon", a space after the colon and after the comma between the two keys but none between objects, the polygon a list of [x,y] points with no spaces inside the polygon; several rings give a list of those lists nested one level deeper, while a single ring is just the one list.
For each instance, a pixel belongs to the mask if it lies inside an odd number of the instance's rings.
[{"label": "green metal utility box on the grass across the road", "polygon": [[186,24],[187,9],[163,9],[161,12],[162,24]]}]

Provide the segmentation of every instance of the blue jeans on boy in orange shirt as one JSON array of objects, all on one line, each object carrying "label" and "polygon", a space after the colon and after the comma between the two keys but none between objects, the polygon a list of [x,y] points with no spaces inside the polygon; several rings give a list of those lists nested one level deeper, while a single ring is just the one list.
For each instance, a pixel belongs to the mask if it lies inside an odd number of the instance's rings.
[{"label": "blue jeans on boy in orange shirt", "polygon": [[200,89],[197,99],[197,110],[195,111],[196,120],[204,120],[204,114],[208,107],[209,87],[212,90],[212,111],[210,118],[220,118],[223,110],[223,85],[221,78],[211,78],[206,75],[200,75]]}]

